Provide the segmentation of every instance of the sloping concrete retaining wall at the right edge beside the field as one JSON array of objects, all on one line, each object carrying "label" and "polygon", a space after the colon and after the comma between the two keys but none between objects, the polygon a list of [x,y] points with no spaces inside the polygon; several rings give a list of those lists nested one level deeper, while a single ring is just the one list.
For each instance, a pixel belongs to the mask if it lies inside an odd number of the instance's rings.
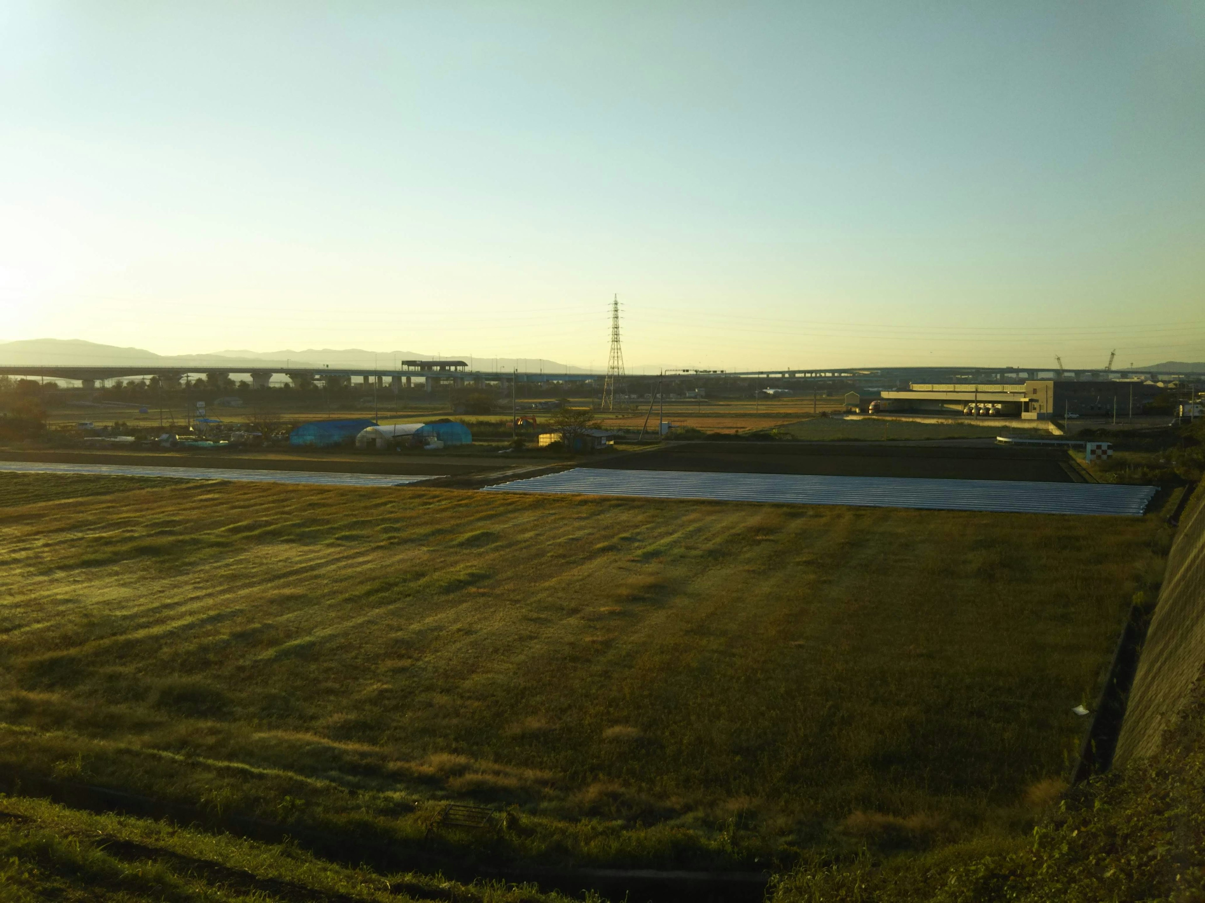
[{"label": "sloping concrete retaining wall at the right edge beside the field", "polygon": [[1180,518],[1113,763],[1151,756],[1205,669],[1205,486]]}]

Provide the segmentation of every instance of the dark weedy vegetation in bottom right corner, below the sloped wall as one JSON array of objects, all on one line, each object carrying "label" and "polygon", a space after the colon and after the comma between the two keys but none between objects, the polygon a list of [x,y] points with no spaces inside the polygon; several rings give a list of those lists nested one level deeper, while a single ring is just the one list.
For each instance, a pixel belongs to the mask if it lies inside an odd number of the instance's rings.
[{"label": "dark weedy vegetation in bottom right corner, below the sloped wall", "polygon": [[1063,790],[1057,781],[1030,790],[1025,802],[1036,824],[1028,836],[987,836],[912,855],[881,852],[889,831],[915,842],[909,826],[863,818],[851,839],[871,846],[800,864],[776,880],[771,903],[1205,899],[1200,683],[1157,756]]}]

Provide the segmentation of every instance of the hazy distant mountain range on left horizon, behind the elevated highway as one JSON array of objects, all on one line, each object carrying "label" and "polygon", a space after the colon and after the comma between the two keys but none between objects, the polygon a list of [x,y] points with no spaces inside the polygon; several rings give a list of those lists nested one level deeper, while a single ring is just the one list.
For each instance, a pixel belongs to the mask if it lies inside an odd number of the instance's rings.
[{"label": "hazy distant mountain range on left horizon, behind the elevated highway", "polygon": [[[443,355],[463,360],[474,370],[515,370],[546,373],[581,373],[582,367],[570,367],[540,358],[471,358]],[[394,361],[429,360],[418,352],[368,352],[363,348],[305,348],[300,352],[251,352],[246,349],[211,352],[207,354],[155,354],[145,348],[119,348],[112,344],[84,342],[81,338],[29,338],[0,342],[0,365],[5,366],[130,366],[188,367],[190,370],[225,370],[240,367],[377,367],[392,370]]]}]

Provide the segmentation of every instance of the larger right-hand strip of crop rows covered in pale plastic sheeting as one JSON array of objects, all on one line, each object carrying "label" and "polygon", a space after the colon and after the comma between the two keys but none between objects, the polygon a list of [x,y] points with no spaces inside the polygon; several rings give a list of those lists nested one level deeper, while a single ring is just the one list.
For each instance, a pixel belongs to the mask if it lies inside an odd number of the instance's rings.
[{"label": "larger right-hand strip of crop rows covered in pale plastic sheeting", "polygon": [[876,508],[1133,515],[1142,514],[1156,492],[1154,486],[1101,483],[611,471],[595,467],[575,467],[484,489],[494,492],[578,492]]}]

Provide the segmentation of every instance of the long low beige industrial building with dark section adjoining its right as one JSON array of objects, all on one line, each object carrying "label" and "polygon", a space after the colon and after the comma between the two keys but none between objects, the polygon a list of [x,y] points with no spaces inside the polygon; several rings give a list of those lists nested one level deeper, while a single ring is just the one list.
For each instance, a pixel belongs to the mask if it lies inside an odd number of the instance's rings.
[{"label": "long low beige industrial building with dark section adjoining its right", "polygon": [[848,393],[846,409],[1045,420],[1146,413],[1164,389],[1135,379],[1027,379],[1024,383],[911,383],[907,389]]}]

